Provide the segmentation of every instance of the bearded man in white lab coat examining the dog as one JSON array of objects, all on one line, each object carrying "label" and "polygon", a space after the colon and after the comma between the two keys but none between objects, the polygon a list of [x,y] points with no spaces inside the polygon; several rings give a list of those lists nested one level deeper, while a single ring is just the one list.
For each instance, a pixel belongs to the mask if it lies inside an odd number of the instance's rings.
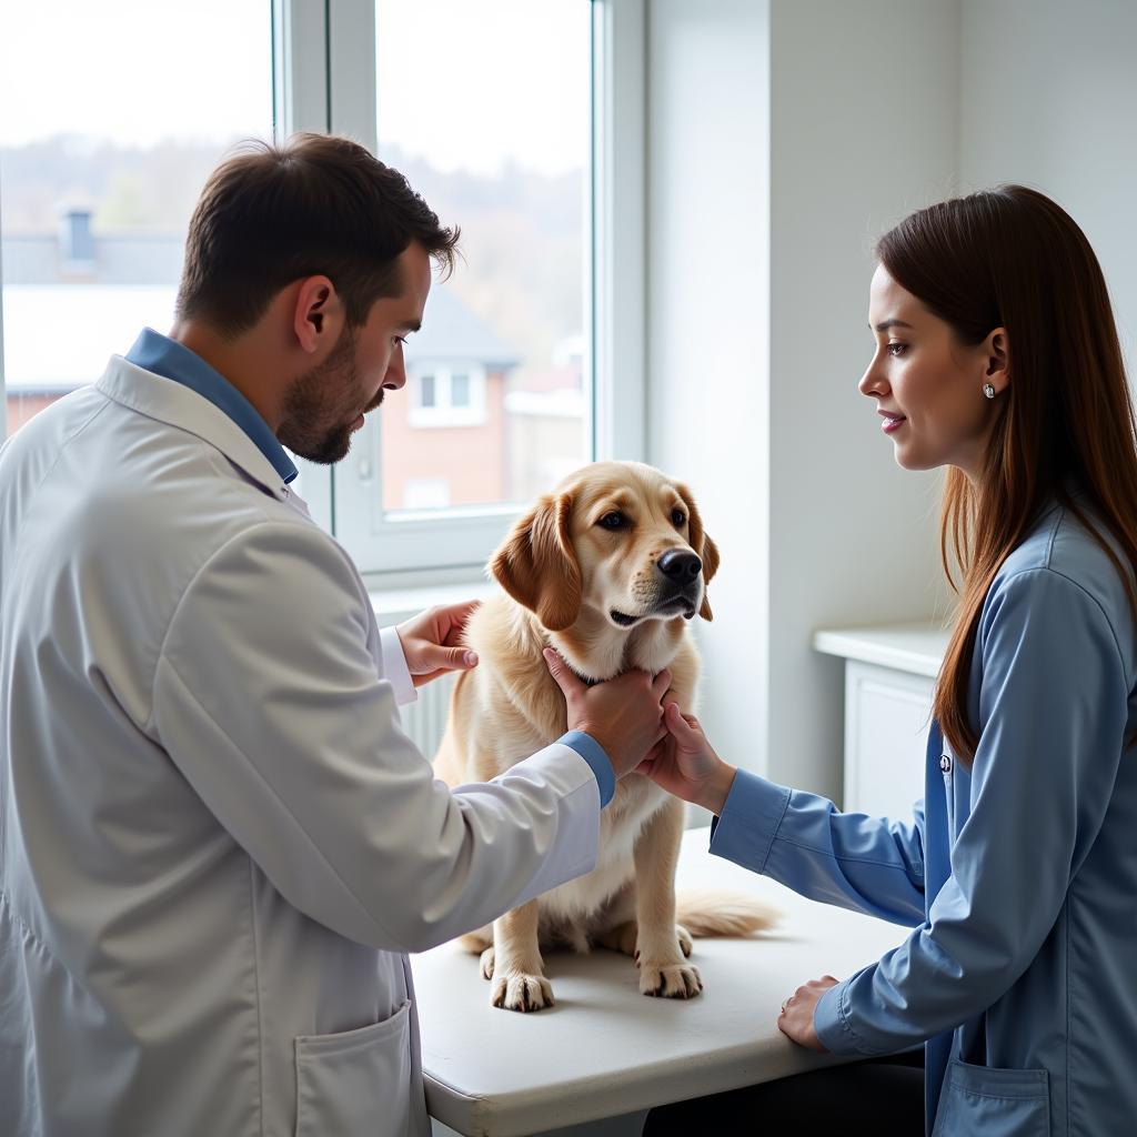
[{"label": "bearded man in white lab coat examining the dog", "polygon": [[474,665],[471,606],[381,633],[290,489],[404,385],[456,236],[351,142],[249,149],[172,333],[0,451],[0,1134],[425,1137],[405,953],[589,872],[662,737],[630,673],[451,792],[396,704]]}]

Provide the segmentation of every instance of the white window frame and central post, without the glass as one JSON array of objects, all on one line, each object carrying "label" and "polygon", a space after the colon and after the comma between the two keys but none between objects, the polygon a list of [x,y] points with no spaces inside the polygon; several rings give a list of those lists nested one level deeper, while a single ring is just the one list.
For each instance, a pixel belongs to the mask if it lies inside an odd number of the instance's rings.
[{"label": "white window frame and central post, without the glass", "polygon": [[[381,0],[380,0],[381,2]],[[596,458],[645,457],[645,0],[581,0],[591,7],[591,193],[584,284],[586,431]],[[375,0],[272,0],[273,123],[377,144]],[[458,218],[460,222],[460,218]],[[0,265],[2,272],[2,265]],[[2,276],[0,276],[2,280]],[[473,380],[472,391],[473,396]],[[0,440],[7,437],[3,312],[0,305]],[[371,483],[298,460],[314,520],[343,540],[374,584],[398,587],[457,572],[478,574],[525,503],[476,511],[406,511],[383,517]],[[371,507],[371,508],[370,508]],[[377,514],[360,540],[348,517]],[[404,513],[404,512],[400,512]]]}]

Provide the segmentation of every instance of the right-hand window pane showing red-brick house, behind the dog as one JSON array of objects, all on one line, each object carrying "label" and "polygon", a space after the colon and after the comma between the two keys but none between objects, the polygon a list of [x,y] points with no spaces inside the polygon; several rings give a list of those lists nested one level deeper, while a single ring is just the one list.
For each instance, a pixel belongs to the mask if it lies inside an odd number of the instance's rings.
[{"label": "right-hand window pane showing red-brick house, behind the dog", "polygon": [[592,5],[372,2],[379,156],[463,257],[335,471],[337,533],[371,568],[476,564],[592,457]]}]

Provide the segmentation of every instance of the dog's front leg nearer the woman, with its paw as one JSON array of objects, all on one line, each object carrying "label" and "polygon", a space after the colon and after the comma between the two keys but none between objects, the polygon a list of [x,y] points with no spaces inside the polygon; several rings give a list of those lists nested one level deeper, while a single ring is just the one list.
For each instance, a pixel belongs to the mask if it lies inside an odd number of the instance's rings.
[{"label": "dog's front leg nearer the woman, with its paw", "polygon": [[636,841],[636,957],[642,995],[694,998],[703,990],[698,970],[683,957],[690,937],[675,926],[675,865],[682,838],[683,803],[671,798]]}]

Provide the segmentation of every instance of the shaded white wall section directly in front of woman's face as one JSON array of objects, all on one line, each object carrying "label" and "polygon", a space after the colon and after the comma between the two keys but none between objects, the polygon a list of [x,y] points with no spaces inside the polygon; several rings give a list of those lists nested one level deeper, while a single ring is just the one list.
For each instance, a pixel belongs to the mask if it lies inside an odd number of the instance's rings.
[{"label": "shaded white wall section directly in front of woman's face", "polygon": [[811,633],[920,619],[943,595],[939,476],[896,466],[856,384],[873,242],[953,188],[958,14],[943,0],[775,0],[770,43],[767,769],[837,796],[843,672]]}]

